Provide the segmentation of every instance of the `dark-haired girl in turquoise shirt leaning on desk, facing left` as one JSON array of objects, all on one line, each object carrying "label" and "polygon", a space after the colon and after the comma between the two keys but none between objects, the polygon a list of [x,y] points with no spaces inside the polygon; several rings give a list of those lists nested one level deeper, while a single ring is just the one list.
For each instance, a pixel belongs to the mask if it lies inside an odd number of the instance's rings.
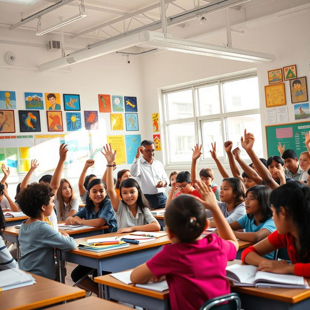
[{"label": "dark-haired girl in turquoise shirt leaning on desk, facing left", "polygon": [[[245,201],[247,214],[230,223],[238,239],[257,243],[276,230],[268,202],[270,193],[270,187],[263,185],[256,185],[247,190]],[[244,229],[245,232],[235,232],[240,229]],[[274,253],[271,252],[264,257],[272,260]]]}]

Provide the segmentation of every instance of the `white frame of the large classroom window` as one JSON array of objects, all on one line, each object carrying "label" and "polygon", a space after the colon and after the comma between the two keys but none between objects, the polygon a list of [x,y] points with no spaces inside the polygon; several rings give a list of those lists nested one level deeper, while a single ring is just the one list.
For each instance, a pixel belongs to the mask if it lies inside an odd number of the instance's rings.
[{"label": "white frame of the large classroom window", "polygon": [[[183,124],[183,123],[194,123],[194,130],[195,130],[195,143],[202,144],[202,126],[205,122],[212,122],[212,121],[220,121],[221,122],[221,129],[222,129],[222,141],[218,141],[217,143],[222,143],[228,139],[228,132],[227,132],[227,118],[233,117],[233,116],[243,116],[243,115],[250,115],[250,114],[260,114],[260,108],[257,109],[248,109],[248,110],[240,110],[240,111],[234,111],[234,112],[224,112],[224,103],[223,103],[223,83],[245,79],[245,78],[254,78],[257,77],[257,70],[256,69],[250,69],[245,71],[236,72],[233,74],[213,77],[213,78],[207,78],[204,80],[200,80],[197,82],[191,82],[191,83],[184,83],[182,85],[176,85],[171,86],[167,88],[162,88],[159,90],[159,94],[161,96],[161,108],[162,108],[162,115],[164,116],[163,124],[164,124],[164,130],[163,130],[163,144],[165,146],[163,157],[165,160],[165,166],[172,169],[173,166],[189,166],[191,164],[191,158],[188,158],[188,161],[182,161],[177,162],[173,161],[171,162],[170,158],[170,152],[169,152],[169,146],[171,145],[170,141],[170,135],[169,135],[169,125],[171,124]],[[220,113],[217,114],[211,114],[211,115],[202,115],[197,116],[200,114],[200,102],[199,102],[199,95],[198,95],[198,89],[201,87],[207,87],[212,85],[218,85],[218,92],[219,92],[219,105],[220,105]],[[184,119],[177,119],[177,120],[168,120],[168,103],[167,103],[167,94],[169,93],[175,93],[180,91],[186,91],[191,90],[192,96],[193,96],[193,117],[188,117]],[[194,146],[194,145],[193,145]],[[208,150],[203,151],[208,152]],[[223,164],[228,164],[228,157],[225,151],[223,152],[223,156],[218,156],[218,159],[222,161]],[[248,161],[248,160],[246,160]],[[203,165],[213,165],[214,160],[212,158],[199,158],[197,161],[197,164],[203,164]]]}]

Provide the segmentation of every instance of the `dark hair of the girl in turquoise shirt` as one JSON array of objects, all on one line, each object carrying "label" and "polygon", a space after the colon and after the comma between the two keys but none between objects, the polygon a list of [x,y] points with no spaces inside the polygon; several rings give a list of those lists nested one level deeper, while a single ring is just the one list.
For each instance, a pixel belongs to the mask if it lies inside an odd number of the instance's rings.
[{"label": "dark hair of the girl in turquoise shirt", "polygon": [[[260,223],[265,222],[267,219],[272,217],[272,210],[270,208],[269,204],[269,196],[271,193],[271,189],[268,186],[264,185],[255,185],[250,187],[247,192],[246,196],[248,196],[248,193],[252,193],[254,198],[257,199],[260,209],[262,212],[262,218],[259,220]],[[248,214],[248,218],[253,218],[252,214]]]}]

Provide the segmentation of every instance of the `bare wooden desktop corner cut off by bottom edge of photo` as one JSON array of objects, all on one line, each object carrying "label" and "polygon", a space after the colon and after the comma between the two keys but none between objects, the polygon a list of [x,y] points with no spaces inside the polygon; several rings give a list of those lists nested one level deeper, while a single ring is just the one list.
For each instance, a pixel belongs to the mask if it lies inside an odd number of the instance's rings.
[{"label": "bare wooden desktop corner cut off by bottom edge of photo", "polygon": [[98,297],[90,296],[66,304],[47,308],[50,310],[86,310],[86,309],[104,309],[104,310],[128,310],[132,309],[115,302],[107,301]]}]

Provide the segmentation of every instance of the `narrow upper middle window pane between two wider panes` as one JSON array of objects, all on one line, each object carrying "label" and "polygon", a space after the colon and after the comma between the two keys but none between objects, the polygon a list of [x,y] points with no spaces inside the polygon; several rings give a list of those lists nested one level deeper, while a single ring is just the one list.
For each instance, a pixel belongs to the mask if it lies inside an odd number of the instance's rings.
[{"label": "narrow upper middle window pane between two wider panes", "polygon": [[219,109],[219,96],[218,85],[201,87],[197,90],[200,115],[218,114]]}]

